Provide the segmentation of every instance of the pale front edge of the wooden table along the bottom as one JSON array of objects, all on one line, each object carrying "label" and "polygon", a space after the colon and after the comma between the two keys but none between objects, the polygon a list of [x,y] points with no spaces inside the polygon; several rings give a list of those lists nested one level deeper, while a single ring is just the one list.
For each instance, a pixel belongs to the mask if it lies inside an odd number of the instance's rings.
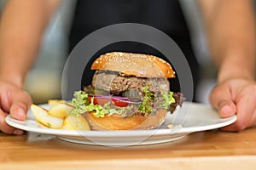
[{"label": "pale front edge of the wooden table along the bottom", "polygon": [[255,169],[256,156],[195,156],[119,160],[2,161],[0,169]]}]

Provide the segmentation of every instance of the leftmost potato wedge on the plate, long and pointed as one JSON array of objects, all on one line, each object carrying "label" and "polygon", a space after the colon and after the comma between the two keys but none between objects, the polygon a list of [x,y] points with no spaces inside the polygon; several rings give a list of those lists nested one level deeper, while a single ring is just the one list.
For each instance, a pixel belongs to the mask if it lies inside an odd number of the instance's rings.
[{"label": "leftmost potato wedge on the plate, long and pointed", "polygon": [[46,127],[50,128],[61,128],[63,124],[63,119],[50,116],[48,111],[39,105],[31,105],[31,110],[33,115],[36,117],[37,121],[42,123]]}]

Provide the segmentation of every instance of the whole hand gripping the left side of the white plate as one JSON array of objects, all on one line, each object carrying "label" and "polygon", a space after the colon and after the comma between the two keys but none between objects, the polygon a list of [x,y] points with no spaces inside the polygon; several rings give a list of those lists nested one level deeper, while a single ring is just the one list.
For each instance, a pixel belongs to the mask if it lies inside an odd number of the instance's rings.
[{"label": "whole hand gripping the left side of the white plate", "polygon": [[13,118],[23,121],[32,99],[23,89],[9,82],[0,82],[0,130],[3,133],[22,134],[23,131],[10,127],[5,117],[10,114]]}]

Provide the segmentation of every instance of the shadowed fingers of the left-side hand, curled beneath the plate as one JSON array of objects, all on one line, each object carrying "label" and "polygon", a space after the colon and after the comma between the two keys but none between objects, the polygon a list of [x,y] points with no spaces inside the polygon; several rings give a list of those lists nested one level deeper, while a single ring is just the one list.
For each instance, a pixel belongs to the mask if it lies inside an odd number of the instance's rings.
[{"label": "shadowed fingers of the left-side hand, curled beneath the plate", "polygon": [[20,135],[20,134],[23,134],[24,131],[20,130],[20,129],[17,129],[15,127],[11,127],[9,126],[9,124],[7,124],[5,122],[5,117],[7,116],[8,114],[7,113],[4,113],[1,109],[0,109],[0,130],[3,132],[3,133],[9,133],[9,134],[17,134],[17,135]]}]

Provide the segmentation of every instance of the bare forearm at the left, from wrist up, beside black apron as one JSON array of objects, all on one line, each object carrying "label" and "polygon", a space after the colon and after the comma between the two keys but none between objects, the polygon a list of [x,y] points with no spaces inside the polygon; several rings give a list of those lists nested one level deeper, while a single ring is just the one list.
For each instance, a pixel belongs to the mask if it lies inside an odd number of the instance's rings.
[{"label": "bare forearm at the left, from wrist up, beside black apron", "polygon": [[0,79],[22,87],[58,2],[9,0],[0,23]]}]

